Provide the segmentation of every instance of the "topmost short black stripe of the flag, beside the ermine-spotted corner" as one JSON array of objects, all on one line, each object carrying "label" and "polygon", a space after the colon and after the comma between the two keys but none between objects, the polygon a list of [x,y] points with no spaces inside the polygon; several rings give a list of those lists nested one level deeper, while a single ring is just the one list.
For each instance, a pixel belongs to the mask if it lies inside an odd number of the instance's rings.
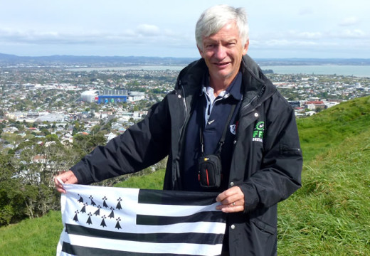
[{"label": "topmost short black stripe of the flag, beside the ermine-spotted corner", "polygon": [[218,193],[194,191],[139,190],[139,203],[174,206],[208,206],[216,203]]}]

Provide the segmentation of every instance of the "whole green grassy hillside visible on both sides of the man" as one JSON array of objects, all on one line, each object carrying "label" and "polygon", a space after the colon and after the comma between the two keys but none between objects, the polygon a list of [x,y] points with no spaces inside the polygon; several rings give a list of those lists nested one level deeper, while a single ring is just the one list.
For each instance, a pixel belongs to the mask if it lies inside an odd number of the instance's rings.
[{"label": "whole green grassy hillside visible on both sides of the man", "polygon": [[[279,204],[278,255],[370,255],[369,113],[363,97],[297,121],[303,187]],[[163,176],[119,186],[161,189]],[[0,255],[55,255],[61,230],[59,212],[0,228]]]}]

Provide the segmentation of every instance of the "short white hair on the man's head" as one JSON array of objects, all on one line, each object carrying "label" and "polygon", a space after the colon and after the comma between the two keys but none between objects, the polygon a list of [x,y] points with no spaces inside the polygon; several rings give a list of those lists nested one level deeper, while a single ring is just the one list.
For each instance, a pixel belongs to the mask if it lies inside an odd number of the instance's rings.
[{"label": "short white hair on the man's head", "polygon": [[231,21],[236,22],[242,45],[249,40],[248,19],[243,8],[234,8],[226,4],[212,6],[199,17],[196,22],[195,38],[196,46],[203,50],[203,37],[211,36]]}]

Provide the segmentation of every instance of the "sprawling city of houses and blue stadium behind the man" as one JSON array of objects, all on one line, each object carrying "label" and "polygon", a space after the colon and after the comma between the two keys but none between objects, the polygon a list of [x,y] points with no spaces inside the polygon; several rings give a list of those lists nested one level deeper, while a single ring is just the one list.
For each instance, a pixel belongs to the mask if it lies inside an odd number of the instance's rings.
[{"label": "sprawling city of houses and blue stadium behind the man", "polygon": [[[147,114],[176,82],[179,70],[107,68],[1,68],[0,150],[15,150],[22,139],[56,134],[64,145],[75,134],[104,127],[107,142]],[[370,78],[341,75],[266,74],[297,117],[315,114],[370,94]],[[9,141],[6,134],[18,139]]]}]

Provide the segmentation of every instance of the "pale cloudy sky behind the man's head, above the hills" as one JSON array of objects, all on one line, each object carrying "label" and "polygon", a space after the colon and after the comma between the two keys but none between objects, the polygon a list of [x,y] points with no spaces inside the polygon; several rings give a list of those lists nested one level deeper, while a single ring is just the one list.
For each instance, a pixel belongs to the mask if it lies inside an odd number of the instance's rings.
[{"label": "pale cloudy sky behind the man's head, above the hills", "polygon": [[245,8],[253,58],[370,58],[369,0],[3,0],[0,53],[194,58],[215,4]]}]

